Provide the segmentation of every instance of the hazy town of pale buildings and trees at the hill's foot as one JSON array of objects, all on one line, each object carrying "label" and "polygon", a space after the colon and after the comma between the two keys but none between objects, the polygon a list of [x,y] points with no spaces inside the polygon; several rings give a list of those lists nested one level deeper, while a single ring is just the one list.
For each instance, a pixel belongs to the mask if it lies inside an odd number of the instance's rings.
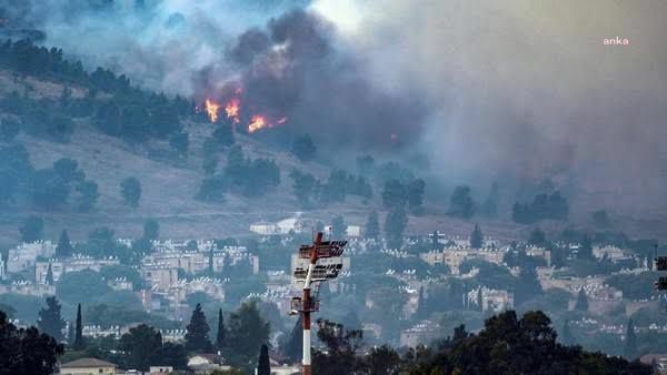
[{"label": "hazy town of pale buildings and trees at the hill's foot", "polygon": [[[341,217],[318,223],[327,236],[348,241],[341,274],[318,291],[320,315],[361,330],[367,345],[418,347],[459,324],[479,330],[494,314],[539,308],[564,343],[656,358],[643,351],[660,345],[650,341],[660,341],[667,324],[660,315],[665,300],[651,293],[647,243],[594,243],[588,235],[551,242],[537,227],[529,239],[502,243],[475,225],[469,237],[438,231],[406,236],[400,249],[388,249],[372,220],[371,214],[369,223],[347,225]],[[64,342],[73,341],[74,311],[82,306],[87,338],[120,341],[133,327],[151,324],[163,342],[185,343],[195,307],[203,306],[216,327],[218,308],[231,312],[252,303],[270,322],[271,359],[280,374],[297,373],[298,356],[286,356],[296,323],[288,313],[299,293],[295,250],[311,240],[317,230],[311,223],[302,216],[260,222],[238,240],[163,240],[155,220],[146,222],[138,240],[100,230],[88,242],[73,243],[63,231],[58,241],[8,251],[0,262],[0,306],[17,306],[10,307],[12,323],[21,327],[34,324],[39,306],[56,296]],[[211,352],[191,356],[188,366],[230,368],[219,351]]]}]

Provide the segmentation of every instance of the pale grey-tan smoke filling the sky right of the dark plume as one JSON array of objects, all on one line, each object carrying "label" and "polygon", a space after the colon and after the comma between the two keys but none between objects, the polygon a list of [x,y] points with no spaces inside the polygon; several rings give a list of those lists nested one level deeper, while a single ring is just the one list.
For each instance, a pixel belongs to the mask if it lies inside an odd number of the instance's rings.
[{"label": "pale grey-tan smoke filling the sky right of the dark plume", "polygon": [[[667,210],[666,2],[322,0],[316,8],[336,14],[377,84],[421,89],[435,109],[422,149],[445,176],[552,178],[579,188],[585,210]],[[604,43],[615,37],[629,44]]]}]

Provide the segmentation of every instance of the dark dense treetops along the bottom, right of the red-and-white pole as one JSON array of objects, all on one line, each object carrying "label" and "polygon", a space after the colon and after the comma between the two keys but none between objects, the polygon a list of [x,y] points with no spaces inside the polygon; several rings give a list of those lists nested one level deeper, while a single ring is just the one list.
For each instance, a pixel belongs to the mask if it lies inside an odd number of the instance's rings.
[{"label": "dark dense treetops along the bottom, right of the red-and-white pole", "polygon": [[465,326],[431,347],[409,349],[402,356],[389,346],[359,354],[362,334],[320,321],[325,348],[313,355],[317,374],[651,374],[638,362],[628,363],[603,353],[557,341],[549,318],[541,312],[518,317],[514,311],[492,316],[478,334]]}]

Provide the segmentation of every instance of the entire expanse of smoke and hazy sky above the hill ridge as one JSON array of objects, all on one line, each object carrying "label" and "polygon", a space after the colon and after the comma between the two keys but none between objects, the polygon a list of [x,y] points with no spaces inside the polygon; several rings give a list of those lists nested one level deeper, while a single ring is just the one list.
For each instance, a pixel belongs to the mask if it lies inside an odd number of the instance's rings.
[{"label": "entire expanse of smoke and hazy sky above the hill ridge", "polygon": [[551,178],[590,206],[667,209],[661,0],[4,2],[152,89],[222,99],[240,82],[247,112],[427,153],[448,181]]}]

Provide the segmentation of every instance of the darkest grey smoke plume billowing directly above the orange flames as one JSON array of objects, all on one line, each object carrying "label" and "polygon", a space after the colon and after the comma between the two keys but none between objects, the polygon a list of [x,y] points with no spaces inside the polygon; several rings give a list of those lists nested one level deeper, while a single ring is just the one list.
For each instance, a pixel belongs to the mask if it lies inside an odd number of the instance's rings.
[{"label": "darkest grey smoke plume billowing directly above the orange flames", "polygon": [[416,141],[425,115],[417,97],[407,88],[401,97],[371,87],[358,58],[336,42],[334,26],[302,9],[242,33],[226,63],[239,69],[246,118],[285,116],[289,131],[331,145],[394,149]]}]

